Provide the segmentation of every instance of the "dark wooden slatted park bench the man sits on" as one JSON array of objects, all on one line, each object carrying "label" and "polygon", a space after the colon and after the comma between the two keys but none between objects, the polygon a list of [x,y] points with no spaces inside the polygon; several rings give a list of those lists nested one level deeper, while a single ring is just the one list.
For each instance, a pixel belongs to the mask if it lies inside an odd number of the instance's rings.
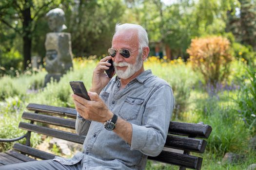
[{"label": "dark wooden slatted park bench the man sits on", "polygon": [[[85,136],[79,136],[75,133],[63,131],[62,129],[75,129],[77,111],[72,108],[55,107],[30,103],[27,105],[30,112],[23,112],[22,118],[30,120],[30,123],[20,122],[19,128],[27,133],[14,139],[0,139],[0,142],[13,142],[26,138],[26,144],[15,143],[13,150],[0,153],[0,166],[15,164],[27,161],[36,161],[38,158],[53,159],[52,153],[40,151],[30,147],[31,132],[52,136],[67,141],[82,144]],[[41,122],[35,123],[34,122]],[[42,126],[45,124],[55,126]],[[61,130],[56,127],[64,127]],[[182,123],[171,121],[169,133],[165,143],[164,150],[156,157],[149,156],[151,160],[172,164],[180,167],[180,170],[196,169],[200,170],[202,158],[190,155],[190,152],[204,153],[207,142],[204,139],[211,134],[212,128],[203,123]],[[179,153],[173,152],[179,151]],[[33,158],[32,158],[33,157]]]}]

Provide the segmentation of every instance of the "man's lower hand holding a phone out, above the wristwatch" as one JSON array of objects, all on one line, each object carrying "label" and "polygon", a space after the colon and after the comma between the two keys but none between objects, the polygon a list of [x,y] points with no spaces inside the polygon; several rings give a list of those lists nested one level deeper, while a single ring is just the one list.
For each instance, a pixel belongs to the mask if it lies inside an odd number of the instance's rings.
[{"label": "man's lower hand holding a phone out, above the wristwatch", "polygon": [[107,108],[97,93],[88,91],[88,95],[91,101],[75,94],[72,95],[76,110],[81,117],[101,123],[113,117],[113,113]]}]

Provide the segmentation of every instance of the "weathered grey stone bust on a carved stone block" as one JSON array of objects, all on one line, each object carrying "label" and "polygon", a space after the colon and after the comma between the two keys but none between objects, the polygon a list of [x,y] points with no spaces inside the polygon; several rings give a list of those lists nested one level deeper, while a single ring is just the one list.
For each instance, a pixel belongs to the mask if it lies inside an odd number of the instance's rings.
[{"label": "weathered grey stone bust on a carved stone block", "polygon": [[72,50],[71,50],[71,34],[61,33],[66,29],[65,14],[62,9],[55,8],[46,14],[48,26],[52,33],[46,34],[45,50],[46,50],[46,70],[48,74],[45,76],[44,86],[53,78],[59,81],[60,77],[67,70],[73,67]]}]

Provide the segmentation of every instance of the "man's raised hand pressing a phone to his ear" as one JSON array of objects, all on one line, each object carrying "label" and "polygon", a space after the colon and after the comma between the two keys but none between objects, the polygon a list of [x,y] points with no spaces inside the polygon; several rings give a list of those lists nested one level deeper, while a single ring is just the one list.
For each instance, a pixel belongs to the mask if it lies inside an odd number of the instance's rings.
[{"label": "man's raised hand pressing a phone to his ear", "polygon": [[108,84],[108,82],[111,80],[107,74],[104,72],[106,69],[111,66],[110,63],[107,61],[111,60],[111,56],[106,56],[102,58],[97,67],[93,71],[93,81],[92,81],[92,87],[90,89],[91,92],[100,93],[100,91]]}]

